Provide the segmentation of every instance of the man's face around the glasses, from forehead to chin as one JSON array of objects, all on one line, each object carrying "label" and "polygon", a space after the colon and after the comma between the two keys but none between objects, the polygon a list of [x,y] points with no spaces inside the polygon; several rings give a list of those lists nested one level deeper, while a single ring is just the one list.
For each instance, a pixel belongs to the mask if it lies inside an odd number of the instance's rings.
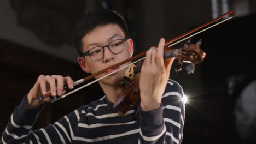
[{"label": "man's face around the glasses, from forehead to chin", "polygon": [[[125,38],[125,35],[118,25],[109,24],[106,26],[96,27],[83,37],[83,52],[90,50],[92,47],[108,45],[113,40],[123,38]],[[114,64],[124,61],[127,58],[130,58],[133,53],[133,43],[131,39],[124,41],[124,50],[118,54],[112,53],[108,47],[104,47],[104,50],[104,56],[99,61],[92,61],[89,56],[85,56],[84,59],[79,57],[78,62],[82,69],[87,73],[95,74],[100,70],[106,69]],[[127,63],[113,69],[112,71],[120,69],[121,67],[124,67],[124,65],[127,65]],[[125,74],[124,71],[125,69],[120,70],[117,73],[102,79],[100,82],[108,85],[116,85],[123,80]],[[109,72],[111,71],[107,71],[106,73],[98,75],[95,78],[98,79]]]}]

